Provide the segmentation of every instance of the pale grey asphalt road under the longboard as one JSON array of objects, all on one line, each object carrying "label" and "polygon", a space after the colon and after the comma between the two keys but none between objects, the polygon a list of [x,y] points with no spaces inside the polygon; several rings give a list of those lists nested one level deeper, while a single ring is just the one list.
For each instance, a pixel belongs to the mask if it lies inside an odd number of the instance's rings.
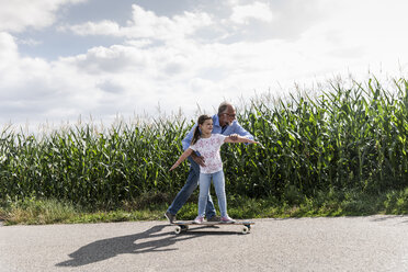
[{"label": "pale grey asphalt road under the longboard", "polygon": [[408,216],[0,226],[0,271],[408,271]]}]

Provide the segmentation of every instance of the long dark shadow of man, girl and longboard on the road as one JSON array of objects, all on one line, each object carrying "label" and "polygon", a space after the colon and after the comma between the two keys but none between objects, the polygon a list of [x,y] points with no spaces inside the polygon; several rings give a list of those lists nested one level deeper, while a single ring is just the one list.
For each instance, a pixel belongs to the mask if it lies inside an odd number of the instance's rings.
[{"label": "long dark shadow of man, girl and longboard on the road", "polygon": [[[192,239],[203,235],[237,234],[230,231],[196,231],[200,228],[195,228],[195,231],[173,235],[171,233],[161,231],[166,226],[169,225],[155,226],[140,234],[126,235],[91,242],[70,253],[70,260],[57,263],[56,267],[82,267],[125,253],[138,254],[147,252],[172,251],[178,249],[171,249],[168,247],[174,245],[178,241]],[[138,240],[151,238],[154,240],[138,242]]]}]

